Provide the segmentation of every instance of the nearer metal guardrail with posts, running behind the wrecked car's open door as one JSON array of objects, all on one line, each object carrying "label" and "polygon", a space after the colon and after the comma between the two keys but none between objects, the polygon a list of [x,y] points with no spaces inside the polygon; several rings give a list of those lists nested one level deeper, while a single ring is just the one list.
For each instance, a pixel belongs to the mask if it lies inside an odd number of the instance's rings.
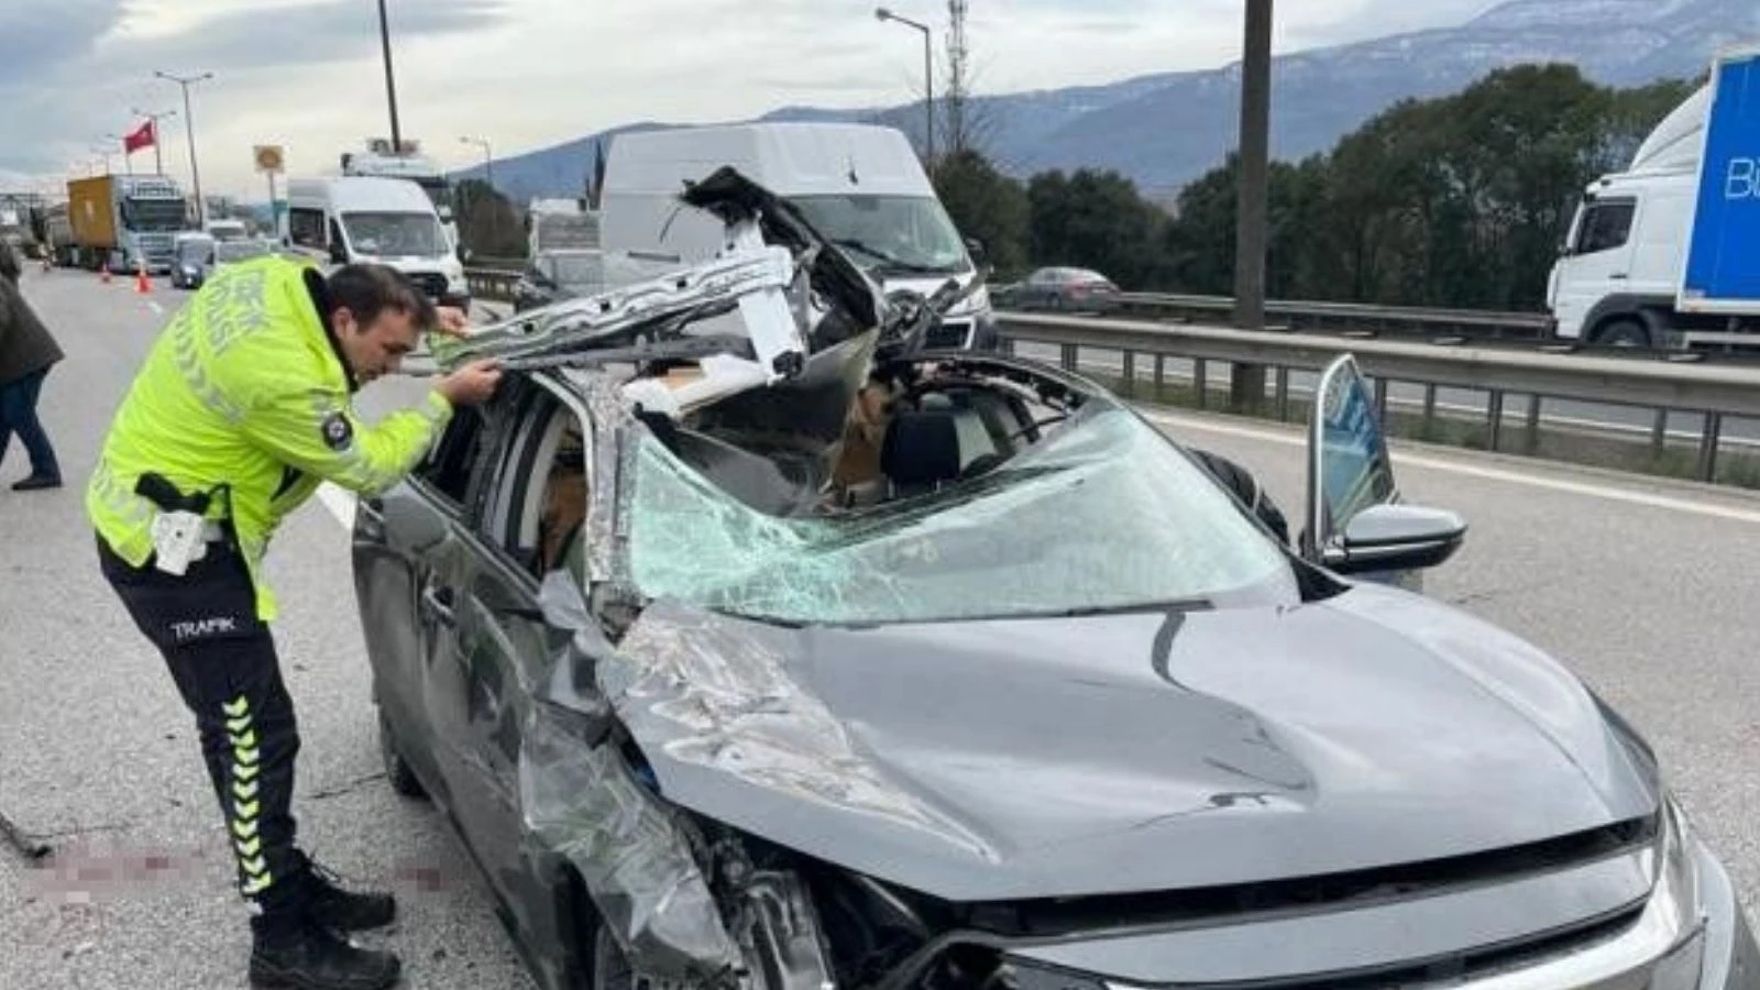
[{"label": "nearer metal guardrail with posts, running behind the wrecked car's open door", "polygon": [[1081,317],[1003,314],[998,321],[1003,347],[1037,342],[1061,347],[1065,368],[1081,366],[1081,351],[1123,354],[1123,388],[1137,386],[1137,358],[1155,359],[1153,380],[1165,380],[1165,359],[1195,361],[1193,386],[1204,402],[1209,361],[1276,368],[1274,403],[1288,419],[1290,370],[1320,372],[1339,354],[1353,354],[1362,372],[1375,379],[1376,405],[1385,419],[1390,382],[1424,386],[1424,419],[1436,416],[1436,389],[1473,389],[1487,395],[1489,446],[1498,449],[1508,398],[1528,396],[1526,428],[1540,428],[1542,400],[1575,400],[1626,405],[1656,412],[1653,444],[1661,446],[1670,412],[1702,414],[1698,479],[1712,481],[1718,442],[1727,416],[1760,417],[1760,368],[1739,365],[1683,363],[1653,352],[1619,356],[1561,354],[1538,349],[1438,345],[1403,340],[1359,340],[1315,333],[1262,333],[1195,324],[1144,321],[1100,321]]}]

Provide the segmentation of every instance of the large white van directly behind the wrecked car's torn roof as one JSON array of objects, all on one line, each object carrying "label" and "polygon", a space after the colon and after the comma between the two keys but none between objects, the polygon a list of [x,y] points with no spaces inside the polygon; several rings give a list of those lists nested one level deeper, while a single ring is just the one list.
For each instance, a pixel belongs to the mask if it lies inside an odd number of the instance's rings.
[{"label": "large white van directly behind the wrecked car's torn roof", "polygon": [[[796,204],[887,292],[933,294],[977,278],[972,247],[935,196],[910,141],[855,123],[750,123],[620,134],[600,196],[607,252],[644,252],[695,264],[715,257],[722,222],[679,203],[690,181],[730,166]],[[989,294],[947,314],[931,347],[991,347]]]}]

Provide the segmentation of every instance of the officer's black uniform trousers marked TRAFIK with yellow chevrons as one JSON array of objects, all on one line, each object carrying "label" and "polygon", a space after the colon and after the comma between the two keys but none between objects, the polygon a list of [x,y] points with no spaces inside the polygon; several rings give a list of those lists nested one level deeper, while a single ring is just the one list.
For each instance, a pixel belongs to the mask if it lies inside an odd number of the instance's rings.
[{"label": "officer's black uniform trousers marked TRAFIK with yellow chevrons", "polygon": [[208,555],[176,576],[151,560],[130,567],[100,537],[99,562],[195,715],[253,928],[297,927],[310,875],[290,812],[299,729],[245,558],[232,541],[209,543]]}]

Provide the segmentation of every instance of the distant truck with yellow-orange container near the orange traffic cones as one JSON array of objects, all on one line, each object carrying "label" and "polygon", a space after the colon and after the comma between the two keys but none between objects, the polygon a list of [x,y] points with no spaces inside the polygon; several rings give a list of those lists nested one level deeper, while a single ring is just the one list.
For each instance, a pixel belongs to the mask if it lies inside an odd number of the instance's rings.
[{"label": "distant truck with yellow-orange container near the orange traffic cones", "polygon": [[143,262],[155,275],[171,271],[176,240],[190,231],[188,201],[169,176],[93,176],[67,183],[67,220],[72,243],[62,264],[97,271],[136,271]]}]

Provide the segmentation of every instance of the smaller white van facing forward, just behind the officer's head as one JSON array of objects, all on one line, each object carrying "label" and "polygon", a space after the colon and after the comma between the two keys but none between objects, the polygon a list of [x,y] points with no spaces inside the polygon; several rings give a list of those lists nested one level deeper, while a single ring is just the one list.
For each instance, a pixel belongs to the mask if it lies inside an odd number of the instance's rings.
[{"label": "smaller white van facing forward, just behind the officer's head", "polygon": [[338,266],[389,264],[408,275],[429,299],[470,308],[465,264],[433,201],[410,180],[292,180],[282,238],[294,250]]}]

